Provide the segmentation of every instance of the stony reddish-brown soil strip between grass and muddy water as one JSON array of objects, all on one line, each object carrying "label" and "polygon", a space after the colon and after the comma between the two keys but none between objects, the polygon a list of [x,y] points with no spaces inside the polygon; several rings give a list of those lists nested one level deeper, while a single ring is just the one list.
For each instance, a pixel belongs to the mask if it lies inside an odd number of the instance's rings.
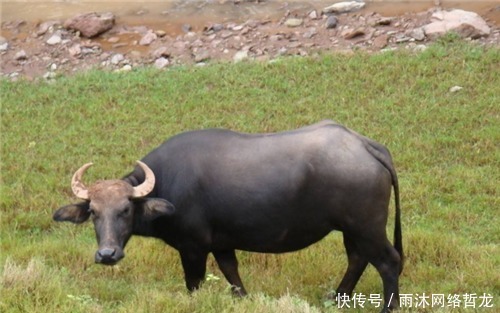
[{"label": "stony reddish-brown soil strip between grass and muddy water", "polygon": [[[244,5],[233,3],[232,6]],[[259,4],[253,3],[254,7]],[[54,79],[90,68],[128,71],[207,62],[268,61],[323,51],[424,50],[436,38],[422,32],[440,8],[378,13],[363,9],[336,15],[311,6],[281,3],[276,14],[185,18],[143,23],[117,16],[114,27],[96,38],[80,37],[60,20],[5,20],[1,24],[0,75],[9,79]],[[82,12],[83,13],[83,12]],[[140,15],[136,12],[134,16]],[[168,12],[163,12],[168,15]],[[162,14],[163,14],[162,13]],[[480,12],[491,32],[474,40],[500,46],[500,6]],[[147,37],[147,38],[146,38]]]}]

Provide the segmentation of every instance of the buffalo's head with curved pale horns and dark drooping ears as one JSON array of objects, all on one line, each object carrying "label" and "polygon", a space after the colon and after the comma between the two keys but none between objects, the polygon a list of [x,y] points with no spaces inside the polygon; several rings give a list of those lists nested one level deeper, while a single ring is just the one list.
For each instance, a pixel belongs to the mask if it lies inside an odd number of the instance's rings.
[{"label": "buffalo's head with curved pale horns and dark drooping ears", "polygon": [[87,188],[82,176],[92,163],[83,165],[73,175],[71,188],[85,202],[63,206],[54,213],[55,221],[76,224],[92,218],[99,245],[96,263],[116,264],[125,256],[123,249],[132,234],[154,219],[174,212],[170,202],[145,197],[155,186],[155,175],[146,164],[137,163],[145,173],[145,180],[136,187],[124,180],[101,180]]}]

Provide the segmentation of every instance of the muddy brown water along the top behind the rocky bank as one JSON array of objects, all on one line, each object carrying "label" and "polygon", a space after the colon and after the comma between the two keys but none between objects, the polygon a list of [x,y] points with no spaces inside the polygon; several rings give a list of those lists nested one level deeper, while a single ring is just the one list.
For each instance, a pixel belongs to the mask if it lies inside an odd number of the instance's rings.
[{"label": "muddy brown water along the top behind the rocky bank", "polygon": [[[241,0],[157,0],[157,1],[25,1],[0,0],[1,20],[25,20],[38,22],[62,20],[78,13],[111,11],[117,23],[145,25],[165,31],[180,32],[183,24],[195,30],[209,23],[242,22],[251,18],[278,19],[290,11],[307,13],[321,10],[339,0],[264,0],[260,3]],[[364,12],[378,12],[384,16],[401,15],[406,12],[422,12],[436,3],[444,8],[460,8],[475,11],[490,21],[500,24],[500,0],[373,0],[366,1]]]}]

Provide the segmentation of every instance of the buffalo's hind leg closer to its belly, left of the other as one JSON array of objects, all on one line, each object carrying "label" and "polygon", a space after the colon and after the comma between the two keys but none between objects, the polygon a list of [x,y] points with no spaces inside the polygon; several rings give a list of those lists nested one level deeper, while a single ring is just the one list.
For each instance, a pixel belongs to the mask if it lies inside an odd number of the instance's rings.
[{"label": "buffalo's hind leg closer to its belly, left of the other", "polygon": [[347,252],[347,271],[344,274],[344,278],[340,282],[337,288],[337,295],[347,295],[351,296],[354,287],[359,281],[359,278],[363,274],[368,265],[368,261],[358,252],[356,247],[356,242],[352,237],[344,233],[344,246]]}]

